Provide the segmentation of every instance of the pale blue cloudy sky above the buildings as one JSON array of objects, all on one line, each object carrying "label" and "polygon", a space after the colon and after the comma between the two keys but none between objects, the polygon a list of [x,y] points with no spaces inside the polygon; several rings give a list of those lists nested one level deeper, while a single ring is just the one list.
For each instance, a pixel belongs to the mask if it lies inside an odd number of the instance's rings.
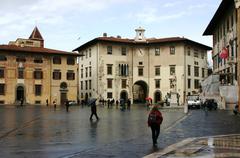
[{"label": "pale blue cloudy sky above the buildings", "polygon": [[45,47],[72,51],[102,36],[186,37],[212,46],[202,36],[221,0],[1,0],[0,44],[28,38],[37,26]]}]

